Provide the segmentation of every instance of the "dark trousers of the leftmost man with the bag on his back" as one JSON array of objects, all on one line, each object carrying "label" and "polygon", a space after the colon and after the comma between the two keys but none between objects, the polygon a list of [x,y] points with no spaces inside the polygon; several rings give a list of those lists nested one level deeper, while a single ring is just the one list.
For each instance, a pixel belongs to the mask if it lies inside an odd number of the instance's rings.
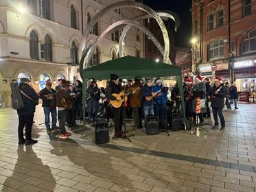
[{"label": "dark trousers of the leftmost man with the bag on his back", "polygon": [[32,125],[33,125],[34,113],[19,115],[19,126],[18,126],[18,134],[19,140],[23,140],[23,130],[25,127],[26,139],[32,139]]}]

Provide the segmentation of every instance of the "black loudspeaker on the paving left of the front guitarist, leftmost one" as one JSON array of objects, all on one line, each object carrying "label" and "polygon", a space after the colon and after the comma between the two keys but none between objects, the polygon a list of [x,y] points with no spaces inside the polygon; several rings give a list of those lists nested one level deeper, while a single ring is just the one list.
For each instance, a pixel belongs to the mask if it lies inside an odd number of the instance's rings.
[{"label": "black loudspeaker on the paving left of the front guitarist, leftmost one", "polygon": [[104,144],[109,142],[109,129],[107,122],[94,123],[95,126],[95,143]]}]

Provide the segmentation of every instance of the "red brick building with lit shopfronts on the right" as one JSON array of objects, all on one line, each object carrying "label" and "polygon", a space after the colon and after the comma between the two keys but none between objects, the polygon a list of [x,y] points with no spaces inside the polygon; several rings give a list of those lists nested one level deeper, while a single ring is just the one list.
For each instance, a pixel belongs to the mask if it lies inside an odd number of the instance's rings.
[{"label": "red brick building with lit shopfronts on the right", "polygon": [[254,83],[256,0],[193,0],[191,14],[193,71]]}]

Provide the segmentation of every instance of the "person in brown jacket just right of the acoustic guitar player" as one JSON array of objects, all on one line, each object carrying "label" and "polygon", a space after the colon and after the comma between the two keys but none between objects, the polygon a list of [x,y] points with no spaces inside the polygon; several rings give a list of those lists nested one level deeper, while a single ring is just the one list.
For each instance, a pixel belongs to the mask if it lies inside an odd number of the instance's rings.
[{"label": "person in brown jacket just right of the acoustic guitar player", "polygon": [[130,95],[130,106],[132,107],[132,115],[135,120],[135,128],[143,128],[142,126],[142,108],[141,108],[141,77],[135,77],[135,83],[128,89]]}]

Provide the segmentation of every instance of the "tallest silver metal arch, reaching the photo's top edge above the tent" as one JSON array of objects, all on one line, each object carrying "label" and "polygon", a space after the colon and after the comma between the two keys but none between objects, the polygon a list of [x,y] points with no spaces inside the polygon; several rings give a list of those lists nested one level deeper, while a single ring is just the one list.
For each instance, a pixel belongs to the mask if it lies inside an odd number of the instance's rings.
[{"label": "tallest silver metal arch, reaching the photo's top edge above the tent", "polygon": [[[91,32],[91,29],[93,29],[93,26],[95,25],[95,23],[97,23],[99,21],[100,18],[102,18],[102,16],[104,16],[104,14],[115,10],[117,8],[137,8],[139,10],[143,10],[144,12],[147,12],[148,14],[152,15],[152,18],[154,18],[156,20],[156,22],[159,24],[159,27],[161,28],[161,31],[163,33],[163,40],[164,40],[164,45],[165,45],[165,52],[164,52],[164,56],[163,56],[163,60],[164,62],[168,62],[169,59],[169,54],[170,54],[170,42],[169,42],[169,36],[167,33],[167,29],[165,27],[165,24],[163,23],[161,17],[154,11],[152,10],[152,8],[148,7],[147,5],[144,5],[142,3],[137,3],[135,1],[119,1],[117,3],[113,3],[111,5],[106,6],[105,8],[103,8],[102,10],[100,10],[99,12],[97,12],[97,14],[93,17],[93,19],[91,20],[91,22],[89,23],[89,25],[86,27],[85,32],[84,32],[84,37],[82,39],[82,43],[80,46],[80,62],[82,61],[83,55],[84,54],[84,49],[86,49],[86,40],[89,36],[89,33]],[[83,67],[83,64],[80,64]]]}]

